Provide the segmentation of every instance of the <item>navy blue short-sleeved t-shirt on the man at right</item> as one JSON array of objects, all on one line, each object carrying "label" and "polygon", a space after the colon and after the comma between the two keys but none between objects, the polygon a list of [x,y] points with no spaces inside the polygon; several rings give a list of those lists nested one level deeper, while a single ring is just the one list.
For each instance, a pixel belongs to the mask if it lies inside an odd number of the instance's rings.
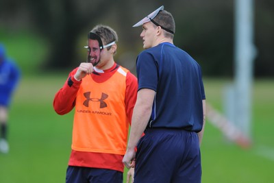
[{"label": "navy blue short-sleeved t-shirt on the man at right", "polygon": [[142,51],[136,61],[138,90],[155,90],[147,127],[199,132],[206,99],[199,64],[182,49],[164,42]]}]

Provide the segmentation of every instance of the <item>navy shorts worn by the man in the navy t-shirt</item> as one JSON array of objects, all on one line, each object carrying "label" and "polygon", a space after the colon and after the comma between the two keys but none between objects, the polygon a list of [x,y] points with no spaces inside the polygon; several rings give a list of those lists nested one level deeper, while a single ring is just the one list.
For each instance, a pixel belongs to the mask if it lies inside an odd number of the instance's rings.
[{"label": "navy shorts worn by the man in the navy t-shirt", "polygon": [[201,182],[201,154],[196,132],[146,130],[136,152],[134,183]]}]

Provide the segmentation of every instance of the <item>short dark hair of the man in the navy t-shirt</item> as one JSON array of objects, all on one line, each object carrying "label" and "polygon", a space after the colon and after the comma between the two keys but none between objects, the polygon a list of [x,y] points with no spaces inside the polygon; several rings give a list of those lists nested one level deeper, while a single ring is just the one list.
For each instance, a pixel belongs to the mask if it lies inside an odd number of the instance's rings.
[{"label": "short dark hair of the man in the navy t-shirt", "polygon": [[[161,10],[157,16],[153,19],[156,23],[161,25],[162,27],[171,30],[173,33],[175,33],[175,21],[173,19],[173,16],[170,12],[167,12],[166,10]],[[173,34],[170,32],[164,32],[164,36],[173,38]]]}]

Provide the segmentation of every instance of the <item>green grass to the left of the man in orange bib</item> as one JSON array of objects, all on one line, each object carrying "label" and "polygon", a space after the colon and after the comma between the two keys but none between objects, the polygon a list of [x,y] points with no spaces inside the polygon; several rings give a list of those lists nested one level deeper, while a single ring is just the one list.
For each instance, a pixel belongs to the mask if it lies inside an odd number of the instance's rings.
[{"label": "green grass to the left of the man in orange bib", "polygon": [[21,82],[10,110],[10,153],[0,154],[0,182],[64,182],[72,116],[58,116],[52,108],[62,82],[46,77]]}]

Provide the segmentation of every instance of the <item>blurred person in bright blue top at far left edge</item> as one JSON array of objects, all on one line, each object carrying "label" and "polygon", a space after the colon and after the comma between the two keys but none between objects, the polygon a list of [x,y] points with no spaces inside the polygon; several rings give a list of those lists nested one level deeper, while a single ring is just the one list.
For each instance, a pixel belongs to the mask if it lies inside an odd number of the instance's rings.
[{"label": "blurred person in bright blue top at far left edge", "polygon": [[8,144],[8,112],[20,76],[18,66],[6,56],[5,47],[0,43],[0,152],[4,154],[10,150]]}]

